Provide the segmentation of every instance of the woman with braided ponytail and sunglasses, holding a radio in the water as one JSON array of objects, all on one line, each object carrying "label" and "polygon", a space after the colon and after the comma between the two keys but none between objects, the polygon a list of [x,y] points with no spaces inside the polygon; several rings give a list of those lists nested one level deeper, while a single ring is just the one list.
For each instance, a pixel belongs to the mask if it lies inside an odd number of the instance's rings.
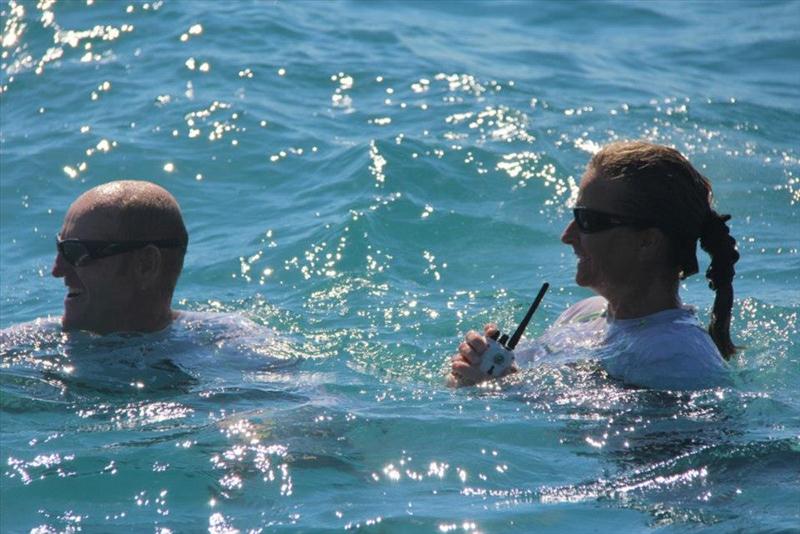
[{"label": "woman with braided ponytail and sunglasses, holding a radio in the water", "polygon": [[[730,320],[739,254],[730,217],[711,207],[708,180],[674,149],[614,143],[589,162],[573,211],[561,240],[578,256],[578,285],[599,296],[566,310],[518,361],[588,344],[606,371],[628,384],[696,389],[724,383],[723,358],[736,350]],[[698,271],[698,240],[711,256],[706,277],[716,292],[708,332],[678,295],[680,280]],[[495,330],[487,325],[484,333]],[[453,357],[451,385],[491,378],[479,367],[485,350],[485,337],[469,332]]]}]

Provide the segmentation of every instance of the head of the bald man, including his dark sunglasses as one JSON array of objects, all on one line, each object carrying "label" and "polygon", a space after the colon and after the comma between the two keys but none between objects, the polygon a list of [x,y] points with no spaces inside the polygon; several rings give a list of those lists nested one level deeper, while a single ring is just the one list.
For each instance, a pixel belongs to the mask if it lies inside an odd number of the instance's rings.
[{"label": "head of the bald man, including his dark sunglasses", "polygon": [[82,194],[64,217],[53,264],[53,276],[67,286],[63,330],[169,326],[188,241],[178,203],[156,184],[123,180]]}]

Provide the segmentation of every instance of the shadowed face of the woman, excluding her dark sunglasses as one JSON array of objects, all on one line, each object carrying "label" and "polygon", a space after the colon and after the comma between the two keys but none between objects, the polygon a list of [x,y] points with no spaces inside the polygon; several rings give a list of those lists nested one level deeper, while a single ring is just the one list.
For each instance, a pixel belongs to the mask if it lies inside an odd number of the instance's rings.
[{"label": "shadowed face of the woman, excluding her dark sunglasses", "polygon": [[[577,205],[616,215],[624,211],[626,185],[617,180],[599,177],[592,169],[581,179]],[[575,282],[593,289],[609,301],[621,298],[636,287],[639,277],[646,275],[638,258],[637,230],[617,226],[595,233],[582,233],[570,221],[561,241],[572,246],[578,257]]]}]

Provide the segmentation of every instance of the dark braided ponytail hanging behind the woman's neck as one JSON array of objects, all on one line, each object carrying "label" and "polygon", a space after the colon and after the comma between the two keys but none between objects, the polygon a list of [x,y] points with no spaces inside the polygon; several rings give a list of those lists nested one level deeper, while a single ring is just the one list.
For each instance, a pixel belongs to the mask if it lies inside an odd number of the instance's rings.
[{"label": "dark braided ponytail hanging behind the woman's neck", "polygon": [[720,215],[709,210],[700,231],[700,247],[711,256],[711,264],[706,270],[708,287],[716,292],[714,307],[708,333],[727,360],[736,353],[731,341],[731,309],[733,308],[733,265],[739,260],[736,240],[730,235],[726,224],[730,215]]}]

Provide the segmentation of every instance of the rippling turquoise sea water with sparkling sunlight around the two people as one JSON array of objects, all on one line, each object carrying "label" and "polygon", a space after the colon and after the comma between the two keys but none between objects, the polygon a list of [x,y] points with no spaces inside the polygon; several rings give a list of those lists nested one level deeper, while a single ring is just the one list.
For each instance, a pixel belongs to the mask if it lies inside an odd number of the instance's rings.
[{"label": "rippling turquoise sea water with sparkling sunlight around the two people", "polygon": [[[120,178],[181,203],[176,307],[263,327],[4,337],[3,532],[798,531],[800,3],[0,10],[0,327],[60,314],[55,233]],[[446,389],[467,330],[589,295],[558,238],[618,138],[734,216],[735,386],[566,358]]]}]

